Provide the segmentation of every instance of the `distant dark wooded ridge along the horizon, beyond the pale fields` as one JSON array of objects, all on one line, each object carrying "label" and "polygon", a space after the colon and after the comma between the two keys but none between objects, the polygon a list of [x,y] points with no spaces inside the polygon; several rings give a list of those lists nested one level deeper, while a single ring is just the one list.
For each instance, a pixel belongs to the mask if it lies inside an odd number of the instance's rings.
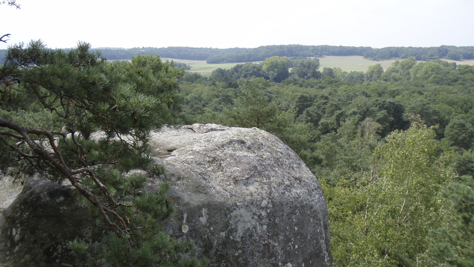
[{"label": "distant dark wooded ridge along the horizon, beyond the pale fields", "polygon": [[[92,49],[94,50],[94,49]],[[432,60],[446,58],[452,60],[474,59],[474,47],[345,47],[345,46],[303,46],[303,45],[273,45],[258,48],[191,48],[191,47],[167,47],[167,48],[129,48],[113,49],[100,48],[101,55],[109,60],[131,59],[137,54],[160,55],[160,57],[171,57],[190,60],[206,60],[207,63],[231,63],[231,62],[253,62],[263,61],[265,58],[279,57],[323,57],[323,56],[363,56],[372,60],[390,59],[393,57],[407,58],[415,57],[416,60]],[[0,50],[0,63],[3,63],[3,55],[6,49]]]}]

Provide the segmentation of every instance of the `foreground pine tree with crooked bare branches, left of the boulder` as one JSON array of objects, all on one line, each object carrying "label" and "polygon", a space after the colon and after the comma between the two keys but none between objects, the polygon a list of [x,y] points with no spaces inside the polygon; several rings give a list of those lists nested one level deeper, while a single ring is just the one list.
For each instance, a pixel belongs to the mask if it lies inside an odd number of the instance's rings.
[{"label": "foreground pine tree with crooked bare branches, left of the boulder", "polygon": [[191,241],[160,231],[173,211],[168,185],[142,191],[164,172],[148,139],[151,130],[177,125],[173,102],[183,69],[150,55],[107,64],[89,49],[52,50],[41,41],[9,48],[0,69],[1,170],[66,179],[77,189],[109,229],[101,246],[69,243],[85,266],[205,265],[182,259]]}]

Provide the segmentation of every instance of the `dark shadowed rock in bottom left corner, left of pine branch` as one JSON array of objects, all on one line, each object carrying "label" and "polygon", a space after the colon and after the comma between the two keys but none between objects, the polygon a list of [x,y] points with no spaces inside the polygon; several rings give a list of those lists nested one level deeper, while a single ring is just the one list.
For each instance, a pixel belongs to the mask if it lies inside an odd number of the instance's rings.
[{"label": "dark shadowed rock in bottom left corner, left of pine branch", "polygon": [[[99,240],[87,209],[78,209],[71,184],[1,177],[0,267],[73,266],[65,241]],[[63,265],[63,263],[65,265]]]}]

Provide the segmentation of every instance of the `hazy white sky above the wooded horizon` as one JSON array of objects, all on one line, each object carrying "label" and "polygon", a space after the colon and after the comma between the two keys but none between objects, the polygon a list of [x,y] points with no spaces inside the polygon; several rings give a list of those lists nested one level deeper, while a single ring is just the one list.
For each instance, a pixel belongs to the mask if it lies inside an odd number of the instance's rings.
[{"label": "hazy white sky above the wooded horizon", "polygon": [[[474,0],[17,0],[8,44],[49,48],[264,45],[474,46]],[[1,36],[0,35],[0,36]],[[4,38],[5,39],[5,38]]]}]

